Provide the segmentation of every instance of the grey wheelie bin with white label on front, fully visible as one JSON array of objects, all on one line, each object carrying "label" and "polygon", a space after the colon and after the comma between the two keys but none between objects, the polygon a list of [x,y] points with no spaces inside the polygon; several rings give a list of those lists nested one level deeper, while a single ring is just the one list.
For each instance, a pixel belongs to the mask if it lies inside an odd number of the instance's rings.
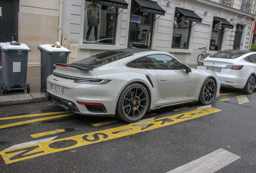
[{"label": "grey wheelie bin with white label on front, fully visible", "polygon": [[27,59],[31,52],[29,47],[23,43],[5,42],[0,43],[2,53],[2,74],[3,85],[2,93],[11,90],[30,91],[30,85],[27,84]]}]

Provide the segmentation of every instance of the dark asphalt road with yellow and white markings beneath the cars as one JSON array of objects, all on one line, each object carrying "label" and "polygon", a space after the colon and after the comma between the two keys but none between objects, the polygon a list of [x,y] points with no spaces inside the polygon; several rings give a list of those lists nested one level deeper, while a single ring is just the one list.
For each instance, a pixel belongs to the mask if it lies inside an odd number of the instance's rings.
[{"label": "dark asphalt road with yellow and white markings beneath the cars", "polygon": [[[211,107],[166,107],[136,124],[73,115],[48,102],[0,107],[0,170],[183,173],[187,164],[188,172],[194,165],[207,167],[197,173],[255,173],[255,104],[256,94],[222,89]],[[209,156],[216,152],[222,155]]]}]

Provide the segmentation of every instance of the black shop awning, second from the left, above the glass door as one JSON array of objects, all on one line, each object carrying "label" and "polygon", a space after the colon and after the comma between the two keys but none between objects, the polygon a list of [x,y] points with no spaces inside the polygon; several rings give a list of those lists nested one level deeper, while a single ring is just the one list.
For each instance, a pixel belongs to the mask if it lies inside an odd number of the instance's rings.
[{"label": "black shop awning, second from the left, above the glass door", "polygon": [[161,8],[155,1],[151,0],[135,0],[140,5],[141,12],[149,12],[153,14],[165,15],[165,10]]}]

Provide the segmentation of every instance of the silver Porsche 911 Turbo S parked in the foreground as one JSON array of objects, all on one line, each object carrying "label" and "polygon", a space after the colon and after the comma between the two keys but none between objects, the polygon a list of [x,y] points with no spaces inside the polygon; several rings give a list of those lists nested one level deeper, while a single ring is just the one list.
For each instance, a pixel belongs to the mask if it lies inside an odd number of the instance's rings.
[{"label": "silver Porsche 911 Turbo S parked in the foreground", "polygon": [[48,101],[82,115],[134,123],[147,111],[191,101],[208,105],[219,96],[214,72],[191,69],[158,50],[111,50],[54,66]]}]

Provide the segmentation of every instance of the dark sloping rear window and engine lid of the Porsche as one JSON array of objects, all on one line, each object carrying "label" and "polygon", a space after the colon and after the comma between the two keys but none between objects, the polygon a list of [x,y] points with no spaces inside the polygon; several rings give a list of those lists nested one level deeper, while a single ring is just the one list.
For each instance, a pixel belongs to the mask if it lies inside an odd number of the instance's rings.
[{"label": "dark sloping rear window and engine lid of the Porsche", "polygon": [[[89,56],[87,58],[83,58],[75,62],[75,64],[83,64],[83,65],[91,65],[94,67],[103,66],[110,62],[114,62],[116,60],[126,58],[128,56],[132,56],[133,53],[124,52],[124,51],[107,51],[100,54],[96,54],[93,56]],[[72,63],[71,63],[72,64]]]}]

